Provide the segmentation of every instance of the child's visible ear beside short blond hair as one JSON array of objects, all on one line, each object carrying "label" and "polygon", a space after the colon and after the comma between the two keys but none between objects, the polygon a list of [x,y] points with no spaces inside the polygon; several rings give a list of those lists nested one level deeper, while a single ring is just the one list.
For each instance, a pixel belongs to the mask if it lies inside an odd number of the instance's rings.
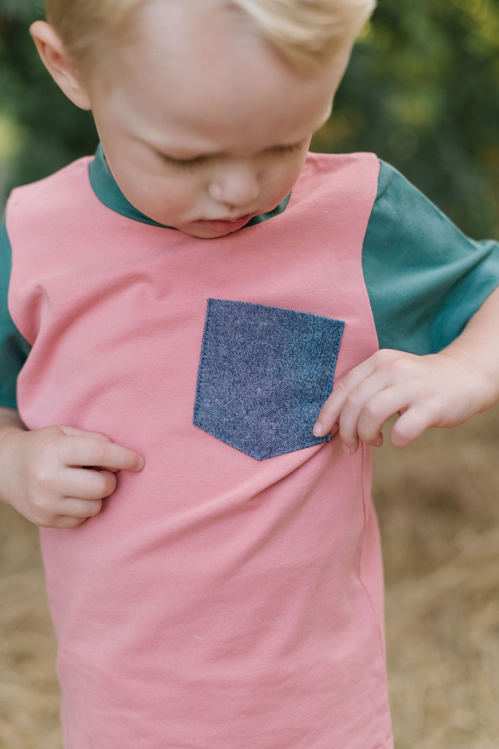
[{"label": "child's visible ear beside short blond hair", "polygon": [[76,77],[70,54],[55,28],[46,21],[35,21],[31,24],[29,32],[43,64],[59,88],[80,109],[91,109],[85,88]]}]

